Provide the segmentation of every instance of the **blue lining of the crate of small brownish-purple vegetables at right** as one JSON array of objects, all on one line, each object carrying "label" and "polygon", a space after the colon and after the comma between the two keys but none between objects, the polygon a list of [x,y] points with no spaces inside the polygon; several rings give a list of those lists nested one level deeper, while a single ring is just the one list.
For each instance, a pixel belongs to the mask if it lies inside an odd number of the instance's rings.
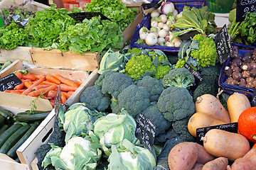
[{"label": "blue lining of the crate of small brownish-purple vegetables at right", "polygon": [[[240,44],[235,44],[235,43],[233,43],[233,47],[238,48],[238,54],[239,54],[240,57],[245,55],[245,53],[249,53],[250,55],[252,55],[252,49],[254,49],[254,47],[252,47],[252,46],[240,45]],[[247,50],[249,48],[251,50]],[[247,96],[247,97],[252,97],[253,89],[243,87],[243,86],[236,86],[236,85],[233,85],[233,84],[225,83],[225,80],[228,79],[228,77],[225,75],[224,70],[225,70],[225,67],[230,66],[231,61],[232,61],[232,58],[229,57],[228,60],[225,63],[223,63],[223,66],[220,69],[220,76],[218,78],[218,85],[227,94],[233,94],[235,92],[238,92],[240,94],[245,94],[245,96]]]}]

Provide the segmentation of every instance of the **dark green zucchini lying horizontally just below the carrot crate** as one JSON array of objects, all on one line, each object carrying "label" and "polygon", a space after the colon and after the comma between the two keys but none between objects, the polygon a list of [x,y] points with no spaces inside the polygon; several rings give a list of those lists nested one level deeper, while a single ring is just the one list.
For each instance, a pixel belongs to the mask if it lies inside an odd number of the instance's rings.
[{"label": "dark green zucchini lying horizontally just below the carrot crate", "polygon": [[43,120],[46,118],[46,116],[49,114],[50,112],[46,112],[46,113],[37,113],[37,114],[31,114],[31,115],[23,115],[23,114],[17,114],[14,115],[14,120],[16,122],[24,122],[24,123],[28,123],[28,122],[35,122],[38,120]]}]

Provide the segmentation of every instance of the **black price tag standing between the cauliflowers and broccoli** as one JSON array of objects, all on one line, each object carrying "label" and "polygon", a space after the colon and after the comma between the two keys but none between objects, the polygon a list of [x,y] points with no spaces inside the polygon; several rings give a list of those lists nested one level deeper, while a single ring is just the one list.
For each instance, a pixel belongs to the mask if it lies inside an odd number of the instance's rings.
[{"label": "black price tag standing between the cauliflowers and broccoli", "polygon": [[156,126],[151,123],[149,118],[146,118],[145,115],[139,113],[135,135],[150,152],[152,152],[153,149],[155,134]]}]

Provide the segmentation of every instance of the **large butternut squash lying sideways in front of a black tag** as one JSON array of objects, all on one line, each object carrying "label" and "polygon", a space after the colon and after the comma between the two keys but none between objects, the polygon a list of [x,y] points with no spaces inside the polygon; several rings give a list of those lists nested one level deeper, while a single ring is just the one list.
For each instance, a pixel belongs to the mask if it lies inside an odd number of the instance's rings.
[{"label": "large butternut squash lying sideways in front of a black tag", "polygon": [[250,150],[250,144],[244,136],[225,130],[211,129],[201,140],[209,154],[214,157],[227,157],[230,161],[245,156]]}]

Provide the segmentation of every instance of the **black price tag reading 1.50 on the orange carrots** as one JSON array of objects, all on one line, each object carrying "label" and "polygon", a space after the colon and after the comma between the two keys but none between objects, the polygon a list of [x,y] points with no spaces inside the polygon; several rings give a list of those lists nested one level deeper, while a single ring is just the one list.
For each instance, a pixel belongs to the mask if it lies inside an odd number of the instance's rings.
[{"label": "black price tag reading 1.50 on the orange carrots", "polygon": [[0,91],[5,91],[14,88],[21,84],[21,79],[18,79],[14,73],[0,79]]}]

